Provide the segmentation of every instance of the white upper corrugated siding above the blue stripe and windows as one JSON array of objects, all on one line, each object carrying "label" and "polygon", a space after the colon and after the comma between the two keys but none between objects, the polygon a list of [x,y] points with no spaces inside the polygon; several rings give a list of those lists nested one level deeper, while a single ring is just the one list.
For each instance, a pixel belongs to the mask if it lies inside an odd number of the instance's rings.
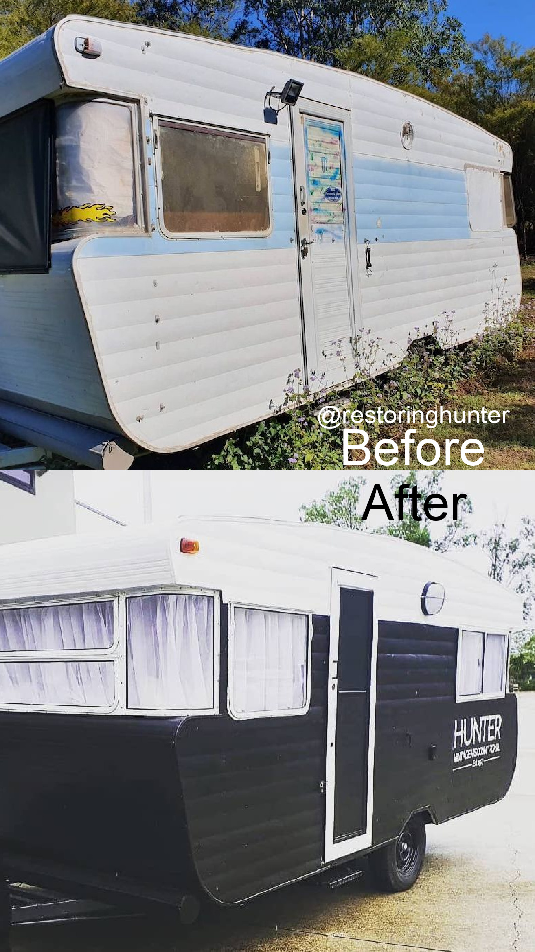
[{"label": "white upper corrugated siding above the blue stripe and windows", "polygon": [[[74,50],[74,38],[84,30],[102,38],[105,52],[97,61]],[[180,103],[185,119],[240,129],[248,128],[244,119],[259,127],[268,89],[282,89],[288,76],[294,76],[305,84],[303,99],[351,110],[355,153],[398,157],[403,149],[401,129],[409,121],[415,129],[414,145],[407,153],[410,162],[452,169],[476,162],[510,169],[510,148],[485,129],[417,96],[346,70],[271,50],[236,48],[204,37],[97,23],[86,17],[63,21],[54,38],[67,82],[74,88],[141,93],[155,110],[173,115]],[[150,47],[144,50],[145,39]],[[286,117],[281,116],[279,122],[284,124]]]}]

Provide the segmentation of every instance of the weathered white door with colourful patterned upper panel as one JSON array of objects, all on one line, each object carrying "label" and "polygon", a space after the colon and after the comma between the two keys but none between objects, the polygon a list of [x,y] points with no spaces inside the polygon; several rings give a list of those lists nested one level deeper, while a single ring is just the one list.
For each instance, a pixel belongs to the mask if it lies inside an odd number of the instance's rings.
[{"label": "weathered white door with colourful patterned upper panel", "polygon": [[298,259],[301,268],[305,367],[308,382],[354,375],[355,315],[351,257],[356,264],[347,109],[300,99],[292,110]]}]

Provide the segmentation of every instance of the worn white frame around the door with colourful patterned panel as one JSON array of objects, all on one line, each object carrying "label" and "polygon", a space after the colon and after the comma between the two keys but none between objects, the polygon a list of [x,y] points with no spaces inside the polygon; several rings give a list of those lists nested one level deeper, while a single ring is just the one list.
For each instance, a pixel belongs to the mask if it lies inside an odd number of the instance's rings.
[{"label": "worn white frame around the door with colourful patterned panel", "polygon": [[[345,216],[347,227],[347,294],[349,299],[349,334],[353,338],[357,327],[362,328],[360,295],[358,289],[357,266],[357,222],[355,216],[355,195],[352,173],[352,138],[351,138],[351,111],[336,106],[326,106],[313,100],[299,98],[296,106],[290,109],[291,139],[293,149],[293,165],[295,178],[295,213],[297,216],[297,257],[301,284],[301,300],[303,311],[303,349],[305,355],[304,370],[306,379],[310,369],[320,368],[321,353],[319,353],[316,322],[314,319],[314,301],[312,293],[312,276],[310,258],[301,257],[301,243],[305,238],[310,240],[310,212],[307,194],[307,169],[305,162],[304,117],[313,119],[332,119],[342,124],[344,129],[344,149],[342,149],[342,181],[346,189],[344,194]],[[305,203],[303,204],[303,198]],[[307,214],[302,214],[305,207]]]}]

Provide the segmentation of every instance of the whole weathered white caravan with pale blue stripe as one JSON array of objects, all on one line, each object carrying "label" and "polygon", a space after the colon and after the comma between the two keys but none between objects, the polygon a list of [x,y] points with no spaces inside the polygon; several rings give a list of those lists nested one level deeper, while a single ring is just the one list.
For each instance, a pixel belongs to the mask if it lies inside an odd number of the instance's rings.
[{"label": "whole weathered white caravan with pale blue stripe", "polygon": [[418,97],[78,16],[0,89],[0,420],[171,452],[519,303],[511,149]]}]

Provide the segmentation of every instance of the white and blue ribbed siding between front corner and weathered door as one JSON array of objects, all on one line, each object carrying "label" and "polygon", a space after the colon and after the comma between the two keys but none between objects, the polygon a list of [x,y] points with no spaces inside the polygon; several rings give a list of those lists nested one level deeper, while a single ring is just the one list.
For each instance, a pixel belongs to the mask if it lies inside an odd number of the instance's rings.
[{"label": "white and blue ribbed siding between front corner and weathered door", "polygon": [[142,446],[192,446],[268,416],[303,365],[291,160],[287,147],[270,151],[266,238],[155,232],[80,249],[78,280],[109,400]]}]

